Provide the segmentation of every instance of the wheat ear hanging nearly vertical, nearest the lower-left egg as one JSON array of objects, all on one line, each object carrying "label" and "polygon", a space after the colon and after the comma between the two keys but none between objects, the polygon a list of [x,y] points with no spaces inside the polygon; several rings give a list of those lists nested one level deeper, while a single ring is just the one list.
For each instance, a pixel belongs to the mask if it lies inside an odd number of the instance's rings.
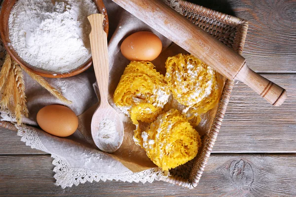
[{"label": "wheat ear hanging nearly vertical, nearest the lower-left egg", "polygon": [[27,100],[25,95],[25,82],[21,66],[13,61],[13,69],[16,87],[19,93],[19,104],[21,106],[21,112],[24,116],[29,117],[29,110],[27,108]]}]

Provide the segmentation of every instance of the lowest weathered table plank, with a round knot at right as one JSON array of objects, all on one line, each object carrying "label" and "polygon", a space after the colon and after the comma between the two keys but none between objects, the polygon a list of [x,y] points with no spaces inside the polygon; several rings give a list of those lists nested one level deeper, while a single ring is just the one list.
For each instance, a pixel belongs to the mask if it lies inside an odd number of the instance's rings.
[{"label": "lowest weathered table plank, with a round knot at right", "polygon": [[0,196],[295,196],[296,155],[213,154],[199,186],[102,182],[61,189],[47,155],[0,156]]}]

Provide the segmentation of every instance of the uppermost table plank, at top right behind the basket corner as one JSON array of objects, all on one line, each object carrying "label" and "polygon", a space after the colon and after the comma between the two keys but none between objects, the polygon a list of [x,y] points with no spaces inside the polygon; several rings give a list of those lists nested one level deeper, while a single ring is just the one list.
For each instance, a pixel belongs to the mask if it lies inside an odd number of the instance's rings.
[{"label": "uppermost table plank, at top right behind the basket corner", "polygon": [[189,0],[249,22],[243,56],[257,72],[296,72],[296,0]]}]

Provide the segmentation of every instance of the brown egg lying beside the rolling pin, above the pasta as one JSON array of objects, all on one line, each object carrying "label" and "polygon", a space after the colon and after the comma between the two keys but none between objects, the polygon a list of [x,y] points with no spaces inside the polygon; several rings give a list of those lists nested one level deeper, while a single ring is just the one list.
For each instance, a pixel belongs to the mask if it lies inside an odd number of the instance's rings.
[{"label": "brown egg lying beside the rolling pin, above the pasta", "polygon": [[121,44],[122,55],[130,61],[152,61],[161,53],[162,43],[151,32],[136,32],[125,38]]}]

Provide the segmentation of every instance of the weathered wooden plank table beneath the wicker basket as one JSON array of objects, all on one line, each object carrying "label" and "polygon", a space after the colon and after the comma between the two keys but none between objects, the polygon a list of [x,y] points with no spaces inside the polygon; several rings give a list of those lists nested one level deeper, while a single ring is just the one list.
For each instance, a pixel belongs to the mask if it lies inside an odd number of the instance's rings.
[{"label": "weathered wooden plank table beneath the wicker basket", "polygon": [[191,0],[249,21],[248,65],[288,91],[272,107],[238,82],[194,190],[165,182],[95,182],[61,189],[52,158],[0,131],[0,196],[296,196],[296,0]]}]

